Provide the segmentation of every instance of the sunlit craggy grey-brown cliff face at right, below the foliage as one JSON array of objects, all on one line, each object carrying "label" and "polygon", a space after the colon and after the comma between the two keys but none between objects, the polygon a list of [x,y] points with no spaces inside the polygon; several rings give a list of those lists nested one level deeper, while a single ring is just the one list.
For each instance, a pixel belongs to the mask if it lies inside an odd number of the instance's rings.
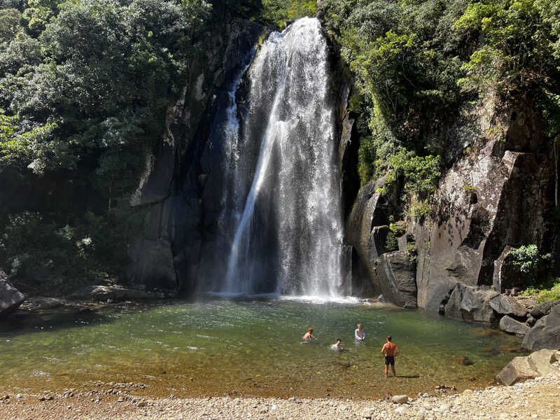
[{"label": "sunlit craggy grey-brown cliff face at right, below the foliage", "polygon": [[507,113],[489,109],[475,116],[472,151],[442,177],[433,220],[413,223],[419,307],[437,312],[451,300],[456,283],[502,292],[514,285],[511,276],[504,280],[509,249],[541,246],[554,166],[536,146],[543,139],[538,113],[531,109],[531,104],[523,104]]}]

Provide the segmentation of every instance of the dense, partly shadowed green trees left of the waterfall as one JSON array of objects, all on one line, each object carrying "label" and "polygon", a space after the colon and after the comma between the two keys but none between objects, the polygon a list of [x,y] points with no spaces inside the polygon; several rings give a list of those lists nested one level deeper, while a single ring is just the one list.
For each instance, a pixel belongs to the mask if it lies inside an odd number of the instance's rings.
[{"label": "dense, partly shadowed green trees left of the waterfall", "polygon": [[129,202],[146,151],[213,38],[234,18],[283,25],[315,10],[302,0],[0,0],[0,175],[21,188],[62,184],[2,203],[0,267],[31,292],[122,270],[142,231],[144,209]]}]

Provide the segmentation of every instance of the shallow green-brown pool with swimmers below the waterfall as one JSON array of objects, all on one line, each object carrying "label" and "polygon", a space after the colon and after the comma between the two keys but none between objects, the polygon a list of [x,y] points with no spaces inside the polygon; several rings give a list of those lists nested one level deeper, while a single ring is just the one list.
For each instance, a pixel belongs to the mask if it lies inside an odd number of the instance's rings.
[{"label": "shallow green-brown pool with swimmers below the waterfall", "polygon": [[[353,340],[362,323],[366,342]],[[302,343],[314,327],[315,340]],[[402,352],[383,376],[384,337]],[[342,339],[346,351],[329,345]],[[0,389],[134,381],[150,395],[384,398],[486,386],[520,340],[423,311],[278,298],[166,302],[0,324]]]}]

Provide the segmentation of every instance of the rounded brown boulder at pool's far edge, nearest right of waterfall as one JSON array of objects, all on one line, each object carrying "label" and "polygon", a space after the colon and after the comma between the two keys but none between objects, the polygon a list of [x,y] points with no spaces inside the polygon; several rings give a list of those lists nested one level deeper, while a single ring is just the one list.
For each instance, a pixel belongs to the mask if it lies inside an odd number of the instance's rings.
[{"label": "rounded brown boulder at pool's far edge, nearest right of waterfall", "polygon": [[375,290],[388,302],[416,308],[416,267],[407,253],[395,251],[377,258],[373,278]]}]

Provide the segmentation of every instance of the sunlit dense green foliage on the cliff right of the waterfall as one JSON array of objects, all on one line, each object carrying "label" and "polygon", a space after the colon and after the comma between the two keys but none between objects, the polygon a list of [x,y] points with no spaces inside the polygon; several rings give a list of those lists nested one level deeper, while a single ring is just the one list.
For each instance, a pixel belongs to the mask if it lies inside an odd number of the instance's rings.
[{"label": "sunlit dense green foliage on the cliff right of the waterfall", "polygon": [[558,0],[326,0],[325,7],[360,88],[350,109],[369,121],[360,127],[362,183],[388,172],[389,182],[403,181],[408,200],[424,200],[440,164],[449,164],[439,157],[447,127],[485,95],[502,104],[532,99],[548,137],[560,134]]}]

